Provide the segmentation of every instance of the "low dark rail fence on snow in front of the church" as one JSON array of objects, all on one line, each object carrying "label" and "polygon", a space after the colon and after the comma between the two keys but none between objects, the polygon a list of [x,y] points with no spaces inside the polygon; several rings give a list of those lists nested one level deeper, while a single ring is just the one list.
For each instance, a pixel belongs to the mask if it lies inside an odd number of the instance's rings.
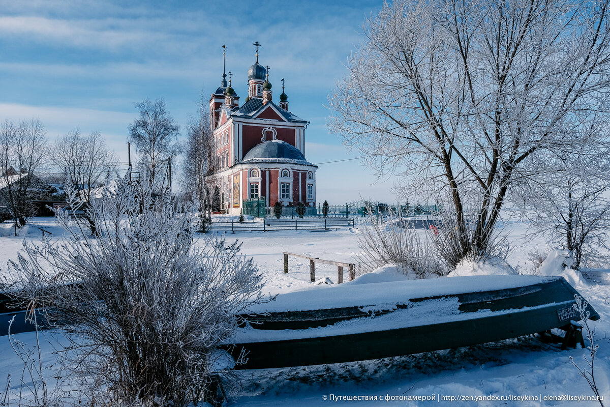
[{"label": "low dark rail fence on snow in front of the church", "polygon": [[276,219],[266,218],[265,220],[245,220],[239,222],[232,220],[229,222],[212,222],[206,224],[207,231],[218,232],[270,232],[282,230],[330,230],[330,229],[350,229],[354,228],[354,219],[337,218],[294,218]]}]

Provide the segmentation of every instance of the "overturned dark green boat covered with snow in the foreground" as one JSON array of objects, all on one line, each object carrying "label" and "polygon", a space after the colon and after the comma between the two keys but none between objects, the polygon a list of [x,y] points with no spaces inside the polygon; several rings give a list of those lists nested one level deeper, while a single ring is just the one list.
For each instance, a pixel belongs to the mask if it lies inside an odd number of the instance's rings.
[{"label": "overturned dark green boat covered with snow in the foreground", "polygon": [[[361,361],[484,344],[553,328],[569,334],[578,294],[562,277],[465,276],[280,294],[257,304],[224,349],[236,369]],[[600,317],[589,306],[590,319]]]}]

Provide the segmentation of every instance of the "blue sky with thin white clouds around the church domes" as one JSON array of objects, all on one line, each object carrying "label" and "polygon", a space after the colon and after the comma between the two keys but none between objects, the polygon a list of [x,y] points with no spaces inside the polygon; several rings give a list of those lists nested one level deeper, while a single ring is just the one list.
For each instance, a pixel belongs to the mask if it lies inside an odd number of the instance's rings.
[{"label": "blue sky with thin white clouds around the church domes", "polygon": [[[290,110],[309,120],[306,158],[358,157],[325,124],[328,95],[362,40],[365,16],[381,0],[106,1],[0,0],[0,120],[39,118],[55,139],[78,126],[102,132],[126,161],[134,103],[163,97],[179,124],[221,81],[222,48],[233,87],[246,95],[246,71],[259,60]],[[279,90],[279,92],[278,92]],[[359,160],[320,164],[318,200],[395,201],[393,180],[377,182]]]}]

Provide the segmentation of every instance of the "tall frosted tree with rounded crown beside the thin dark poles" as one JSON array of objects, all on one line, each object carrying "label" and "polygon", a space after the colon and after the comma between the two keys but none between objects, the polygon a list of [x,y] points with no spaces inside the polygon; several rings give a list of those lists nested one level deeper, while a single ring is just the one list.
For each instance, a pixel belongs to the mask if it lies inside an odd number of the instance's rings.
[{"label": "tall frosted tree with rounded crown beside the thin dark poles", "polygon": [[164,192],[170,186],[165,182],[171,159],[181,152],[180,126],[165,109],[163,99],[154,103],[146,99],[135,107],[140,117],[129,124],[129,140],[140,154],[149,185],[157,192]]}]

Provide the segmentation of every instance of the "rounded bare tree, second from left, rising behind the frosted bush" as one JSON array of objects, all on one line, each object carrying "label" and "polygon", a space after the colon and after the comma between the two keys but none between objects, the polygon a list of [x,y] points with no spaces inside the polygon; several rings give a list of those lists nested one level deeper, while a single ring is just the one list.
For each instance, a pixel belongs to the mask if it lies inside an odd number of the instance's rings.
[{"label": "rounded bare tree, second from left, rising behind the frosted bush", "polygon": [[114,152],[107,148],[99,132],[93,131],[90,135],[83,136],[76,128],[58,140],[53,160],[63,170],[67,183],[78,190],[79,206],[85,209],[85,218],[91,233],[95,234],[96,225],[93,217],[88,214],[88,208],[95,197],[96,188],[114,167]]}]

